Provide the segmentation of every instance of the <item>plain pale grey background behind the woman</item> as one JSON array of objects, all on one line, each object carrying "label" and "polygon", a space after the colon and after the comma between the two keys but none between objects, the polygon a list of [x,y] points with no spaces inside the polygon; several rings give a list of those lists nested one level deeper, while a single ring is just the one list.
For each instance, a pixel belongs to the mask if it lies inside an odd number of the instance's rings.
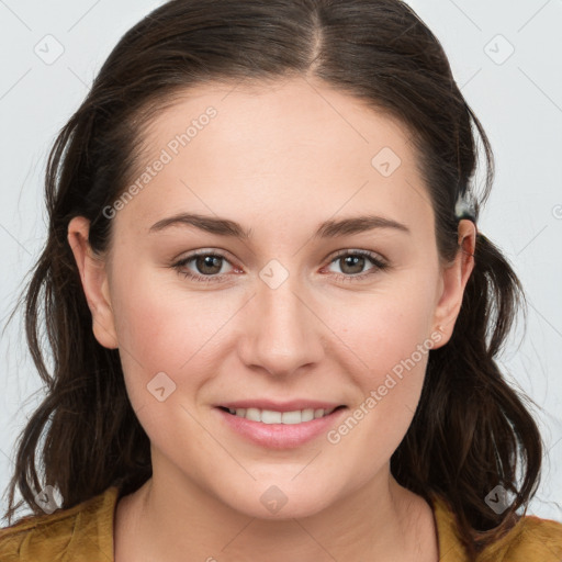
[{"label": "plain pale grey background behind the woman", "polygon": [[[45,236],[48,149],[119,38],[161,3],[0,0],[0,327]],[[505,251],[529,299],[527,330],[501,362],[543,408],[547,456],[530,513],[562,521],[562,1],[408,3],[441,41],[496,156],[479,228]],[[16,435],[42,397],[21,315],[2,335],[0,376],[3,494]]]}]

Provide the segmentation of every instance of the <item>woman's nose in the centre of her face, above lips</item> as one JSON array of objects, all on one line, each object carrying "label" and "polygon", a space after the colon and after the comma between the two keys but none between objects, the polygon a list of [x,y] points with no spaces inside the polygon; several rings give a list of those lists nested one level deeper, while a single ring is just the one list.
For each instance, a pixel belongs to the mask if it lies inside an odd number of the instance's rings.
[{"label": "woman's nose in the centre of her face, above lips", "polygon": [[258,280],[246,306],[239,356],[248,368],[289,376],[318,363],[328,330],[310,292],[300,290],[297,276],[277,288]]}]

